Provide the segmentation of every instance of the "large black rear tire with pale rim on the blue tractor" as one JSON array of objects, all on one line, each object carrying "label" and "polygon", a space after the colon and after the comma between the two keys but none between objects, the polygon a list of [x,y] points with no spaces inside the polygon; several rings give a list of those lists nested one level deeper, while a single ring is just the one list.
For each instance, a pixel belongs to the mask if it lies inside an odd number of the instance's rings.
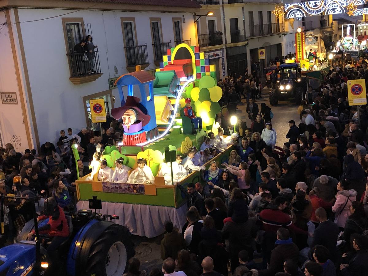
[{"label": "large black rear tire with pale rim on the blue tractor", "polygon": [[84,275],[121,276],[134,255],[127,227],[112,224],[92,245]]}]

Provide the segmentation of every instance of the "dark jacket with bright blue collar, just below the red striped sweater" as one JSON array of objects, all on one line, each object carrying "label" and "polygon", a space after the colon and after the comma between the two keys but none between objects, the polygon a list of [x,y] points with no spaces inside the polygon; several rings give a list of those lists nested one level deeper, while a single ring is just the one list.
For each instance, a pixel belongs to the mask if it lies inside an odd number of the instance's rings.
[{"label": "dark jacket with bright blue collar, just below the red striped sweater", "polygon": [[[281,244],[277,244],[281,243]],[[277,272],[284,271],[284,262],[286,260],[292,260],[294,263],[298,262],[299,249],[296,244],[293,243],[291,238],[289,240],[276,241],[276,247],[271,251],[271,260],[268,269],[258,271],[259,276],[273,276]]]}]

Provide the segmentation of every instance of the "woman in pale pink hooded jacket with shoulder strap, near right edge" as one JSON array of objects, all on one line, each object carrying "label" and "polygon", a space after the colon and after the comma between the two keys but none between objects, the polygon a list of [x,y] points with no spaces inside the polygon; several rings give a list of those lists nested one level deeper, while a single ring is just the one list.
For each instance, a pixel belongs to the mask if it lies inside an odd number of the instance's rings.
[{"label": "woman in pale pink hooded jacket with shoulder strap, near right edge", "polygon": [[351,202],[356,200],[357,192],[355,190],[346,190],[348,182],[341,180],[337,183],[337,194],[335,204],[332,206],[332,212],[335,213],[335,223],[341,228],[345,227],[346,220],[351,215]]}]

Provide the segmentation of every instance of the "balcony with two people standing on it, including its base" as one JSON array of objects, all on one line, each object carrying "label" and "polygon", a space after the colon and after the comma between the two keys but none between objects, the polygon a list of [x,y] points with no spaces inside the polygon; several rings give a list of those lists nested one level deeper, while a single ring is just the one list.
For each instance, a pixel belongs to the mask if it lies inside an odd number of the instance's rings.
[{"label": "balcony with two people standing on it, including its base", "polygon": [[92,53],[67,54],[68,62],[71,68],[70,81],[73,84],[84,84],[95,81],[101,77],[100,58],[98,50]]}]

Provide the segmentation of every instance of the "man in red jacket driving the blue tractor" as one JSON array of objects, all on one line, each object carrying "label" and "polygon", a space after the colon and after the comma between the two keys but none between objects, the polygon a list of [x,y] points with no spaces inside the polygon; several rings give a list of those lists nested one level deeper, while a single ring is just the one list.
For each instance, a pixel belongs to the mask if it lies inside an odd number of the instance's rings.
[{"label": "man in red jacket driving the blue tractor", "polygon": [[[53,197],[49,197],[45,201],[44,215],[38,217],[38,221],[46,219],[49,216],[49,222],[46,225],[39,227],[39,234],[46,234],[52,237],[51,244],[47,247],[47,253],[53,255],[61,243],[67,240],[69,236],[69,226],[66,220],[63,209],[57,205]],[[28,234],[28,238],[32,238],[35,230]],[[56,256],[57,258],[57,256]]]}]

